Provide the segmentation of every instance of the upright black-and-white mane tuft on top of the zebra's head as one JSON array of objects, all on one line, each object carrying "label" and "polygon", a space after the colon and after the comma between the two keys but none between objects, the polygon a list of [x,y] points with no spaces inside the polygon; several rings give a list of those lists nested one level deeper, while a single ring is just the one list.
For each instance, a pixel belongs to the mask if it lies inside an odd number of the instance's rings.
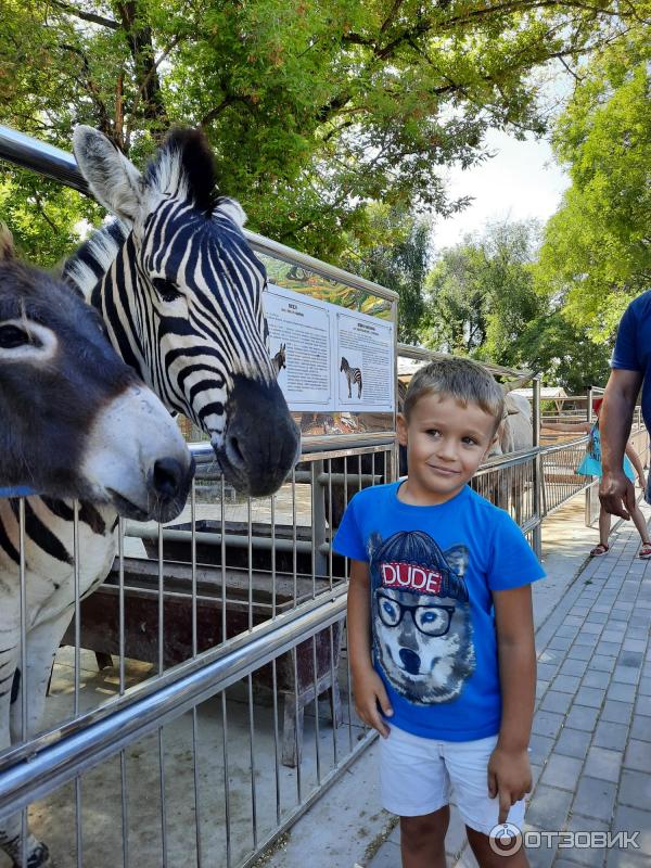
[{"label": "upright black-and-white mane tuft on top of the zebra's head", "polygon": [[215,159],[199,129],[171,129],[144,178],[148,187],[192,201],[206,216],[217,203]]}]

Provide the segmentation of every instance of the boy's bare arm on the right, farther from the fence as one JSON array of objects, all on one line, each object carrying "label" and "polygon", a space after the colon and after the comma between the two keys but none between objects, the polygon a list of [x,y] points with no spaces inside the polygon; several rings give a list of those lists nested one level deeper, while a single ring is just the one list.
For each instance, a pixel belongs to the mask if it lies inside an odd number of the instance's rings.
[{"label": "boy's bare arm on the right, farther from the fence", "polygon": [[532,789],[528,742],[536,695],[536,649],[532,588],[493,592],[502,715],[497,745],[488,763],[488,791],[499,795],[499,819]]}]

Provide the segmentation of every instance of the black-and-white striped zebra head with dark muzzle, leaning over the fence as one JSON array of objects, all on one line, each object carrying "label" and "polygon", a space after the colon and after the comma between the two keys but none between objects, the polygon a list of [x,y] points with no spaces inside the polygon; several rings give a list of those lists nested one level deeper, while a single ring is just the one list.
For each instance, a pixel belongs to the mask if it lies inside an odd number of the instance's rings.
[{"label": "black-and-white striped zebra head with dark muzzle, leaning over the fence", "polygon": [[173,130],[144,174],[102,133],[77,127],[79,167],[122,221],[66,265],[113,345],[162,398],[209,437],[224,475],[244,494],[277,490],[299,434],[266,345],[265,267],[245,215],[215,196],[203,133]]}]

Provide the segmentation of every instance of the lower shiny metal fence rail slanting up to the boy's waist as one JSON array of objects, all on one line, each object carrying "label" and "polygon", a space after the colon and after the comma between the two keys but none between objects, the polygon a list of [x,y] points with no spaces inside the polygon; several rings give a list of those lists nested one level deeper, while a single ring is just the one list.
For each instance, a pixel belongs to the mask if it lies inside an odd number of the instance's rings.
[{"label": "lower shiny metal fence rail slanting up to the boy's waist", "polygon": [[346,613],[346,593],[345,585],[333,588],[327,597],[280,614],[227,646],[171,667],[93,712],[8,751],[0,758],[0,818],[26,807],[341,621]]}]

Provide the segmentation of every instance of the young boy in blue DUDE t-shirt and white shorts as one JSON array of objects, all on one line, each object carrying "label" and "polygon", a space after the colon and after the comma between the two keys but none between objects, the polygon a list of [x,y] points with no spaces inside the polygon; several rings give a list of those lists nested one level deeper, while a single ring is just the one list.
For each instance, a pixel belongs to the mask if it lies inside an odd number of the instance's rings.
[{"label": "young boy in blue DUDE t-shirt and white shorts", "polygon": [[404,868],[445,866],[450,789],[482,868],[527,865],[520,839],[498,853],[489,832],[522,827],[531,790],[529,586],[545,574],[511,518],[468,486],[502,413],[476,362],[418,371],[398,418],[409,476],[357,494],[333,544],[352,559],[355,705],[383,736],[382,801],[400,816]]}]

